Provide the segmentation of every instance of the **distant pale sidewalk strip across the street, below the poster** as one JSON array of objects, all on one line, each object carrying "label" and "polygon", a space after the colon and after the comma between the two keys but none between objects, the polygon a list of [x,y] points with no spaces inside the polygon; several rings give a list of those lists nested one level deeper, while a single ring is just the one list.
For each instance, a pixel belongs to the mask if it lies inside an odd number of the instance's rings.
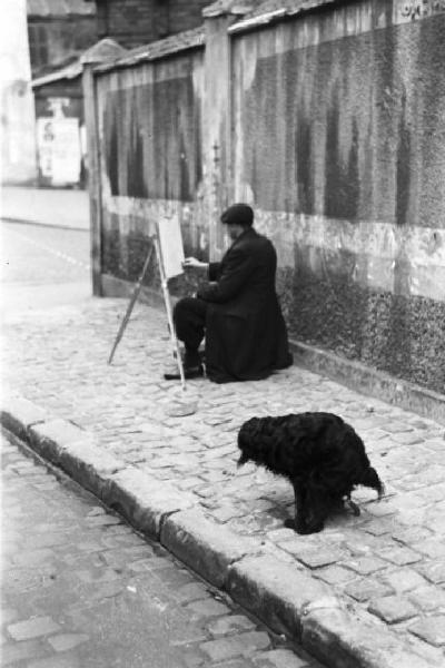
[{"label": "distant pale sidewalk strip across the street, below the poster", "polygon": [[88,191],[1,186],[0,218],[88,230]]}]

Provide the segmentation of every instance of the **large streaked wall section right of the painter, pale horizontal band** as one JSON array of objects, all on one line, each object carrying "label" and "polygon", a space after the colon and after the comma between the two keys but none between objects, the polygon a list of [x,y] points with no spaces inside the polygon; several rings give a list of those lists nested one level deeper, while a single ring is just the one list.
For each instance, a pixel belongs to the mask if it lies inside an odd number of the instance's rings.
[{"label": "large streaked wall section right of the painter, pale horizontal band", "polygon": [[233,52],[236,199],[277,245],[293,337],[442,393],[444,36],[445,13],[362,2]]}]

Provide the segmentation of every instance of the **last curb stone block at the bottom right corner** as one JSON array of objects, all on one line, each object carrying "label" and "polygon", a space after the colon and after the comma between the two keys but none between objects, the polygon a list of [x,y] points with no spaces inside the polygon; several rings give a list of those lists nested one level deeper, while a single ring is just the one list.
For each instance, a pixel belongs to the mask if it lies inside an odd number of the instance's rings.
[{"label": "last curb stone block at the bottom right corner", "polygon": [[[439,668],[421,645],[406,647],[384,623],[344,609],[309,610],[303,618],[303,647],[332,668]],[[416,652],[416,654],[415,654]]]}]

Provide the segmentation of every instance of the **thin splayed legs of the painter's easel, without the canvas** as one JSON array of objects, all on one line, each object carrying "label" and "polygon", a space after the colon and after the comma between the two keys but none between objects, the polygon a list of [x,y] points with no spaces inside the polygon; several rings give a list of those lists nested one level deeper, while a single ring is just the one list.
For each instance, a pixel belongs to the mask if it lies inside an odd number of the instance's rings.
[{"label": "thin splayed legs of the painter's easel, without the canvas", "polygon": [[181,381],[181,387],[182,391],[186,390],[186,376],[184,373],[184,364],[182,364],[182,357],[180,355],[180,350],[179,350],[179,342],[178,338],[176,336],[176,332],[175,332],[175,323],[174,323],[174,315],[172,315],[172,308],[171,308],[171,299],[170,299],[170,293],[168,292],[168,279],[166,276],[166,271],[165,271],[165,266],[164,266],[164,261],[162,261],[162,253],[161,253],[161,248],[160,248],[160,244],[159,244],[159,234],[156,234],[154,236],[150,237],[151,240],[151,245],[150,245],[150,249],[147,254],[146,261],[144,263],[144,267],[142,267],[142,272],[138,278],[138,281],[136,282],[132,295],[130,297],[130,301],[128,303],[127,306],[127,311],[123,315],[123,318],[120,323],[119,326],[119,331],[117,333],[116,336],[116,341],[113,343],[113,346],[111,348],[111,353],[110,356],[108,357],[108,364],[111,364],[116,348],[120,342],[120,340],[123,336],[123,332],[128,325],[128,322],[130,320],[130,315],[131,312],[135,307],[136,301],[139,296],[139,293],[141,291],[142,287],[142,282],[144,278],[147,274],[149,264],[150,264],[150,259],[152,256],[152,252],[154,248],[156,249],[156,255],[157,255],[157,261],[158,261],[158,267],[159,267],[159,273],[160,273],[160,282],[161,282],[161,287],[162,287],[162,296],[164,296],[164,303],[166,306],[166,312],[167,312],[167,321],[168,321],[168,330],[170,333],[170,341],[172,344],[172,348],[174,348],[174,357],[176,358],[176,363],[178,365],[178,370],[179,370],[179,376],[180,376],[180,381]]}]

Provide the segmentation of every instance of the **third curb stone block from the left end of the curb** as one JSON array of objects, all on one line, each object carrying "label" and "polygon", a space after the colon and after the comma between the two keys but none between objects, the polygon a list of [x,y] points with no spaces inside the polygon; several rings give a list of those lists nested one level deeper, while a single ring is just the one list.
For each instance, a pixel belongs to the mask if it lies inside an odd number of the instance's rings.
[{"label": "third curb stone block from the left end of the curb", "polygon": [[59,465],[73,480],[102,499],[113,473],[125,463],[103,452],[91,441],[68,443],[60,450]]}]

